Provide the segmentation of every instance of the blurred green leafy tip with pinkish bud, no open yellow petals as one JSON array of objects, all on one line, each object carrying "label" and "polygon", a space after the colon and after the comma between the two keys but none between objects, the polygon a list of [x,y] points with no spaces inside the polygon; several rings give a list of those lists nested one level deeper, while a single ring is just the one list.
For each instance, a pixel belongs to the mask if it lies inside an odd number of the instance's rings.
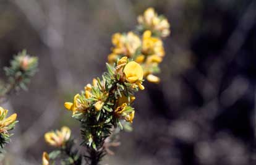
[{"label": "blurred green leafy tip with pinkish bud, no open yellow petals", "polygon": [[23,50],[14,56],[10,67],[4,67],[8,81],[6,85],[0,87],[0,103],[7,98],[13,91],[21,89],[27,90],[27,84],[35,75],[38,66],[37,57],[32,57]]}]

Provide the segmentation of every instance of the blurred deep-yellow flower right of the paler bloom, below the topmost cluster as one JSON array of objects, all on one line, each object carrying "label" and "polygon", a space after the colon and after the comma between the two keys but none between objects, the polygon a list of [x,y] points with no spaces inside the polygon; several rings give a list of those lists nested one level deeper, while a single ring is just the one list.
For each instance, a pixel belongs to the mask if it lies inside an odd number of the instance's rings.
[{"label": "blurred deep-yellow flower right of the paler bloom, below the topmost cluster", "polygon": [[151,36],[150,30],[143,33],[142,53],[145,55],[155,54],[159,57],[163,57],[165,54],[163,42],[159,38]]}]

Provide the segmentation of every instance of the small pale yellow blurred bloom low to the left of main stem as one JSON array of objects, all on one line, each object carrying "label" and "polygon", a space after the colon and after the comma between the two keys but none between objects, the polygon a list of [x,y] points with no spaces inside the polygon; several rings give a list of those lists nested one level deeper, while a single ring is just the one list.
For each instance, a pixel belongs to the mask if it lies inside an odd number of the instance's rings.
[{"label": "small pale yellow blurred bloom low to the left of main stem", "polygon": [[61,130],[45,133],[45,141],[51,146],[60,147],[65,145],[65,143],[69,140],[70,134],[71,130],[69,127],[62,127]]}]

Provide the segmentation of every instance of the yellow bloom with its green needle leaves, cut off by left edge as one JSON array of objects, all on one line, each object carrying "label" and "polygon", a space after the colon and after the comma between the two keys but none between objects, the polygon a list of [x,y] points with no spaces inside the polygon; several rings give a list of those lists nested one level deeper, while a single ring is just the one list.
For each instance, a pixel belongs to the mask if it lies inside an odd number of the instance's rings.
[{"label": "yellow bloom with its green needle leaves, cut off by left edge", "polygon": [[16,118],[17,114],[12,114],[7,117],[8,110],[0,106],[0,153],[6,145],[10,142],[10,137],[12,134],[9,133],[9,130],[14,129],[15,124],[17,123]]}]

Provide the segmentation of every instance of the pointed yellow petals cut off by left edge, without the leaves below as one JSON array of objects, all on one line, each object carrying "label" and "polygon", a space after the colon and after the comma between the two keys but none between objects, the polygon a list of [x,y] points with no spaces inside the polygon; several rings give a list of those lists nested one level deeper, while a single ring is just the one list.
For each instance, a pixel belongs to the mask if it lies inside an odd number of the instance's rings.
[{"label": "pointed yellow petals cut off by left edge, without the leaves below", "polygon": [[12,114],[6,118],[7,114],[8,110],[0,106],[0,133],[7,133],[7,130],[11,129],[8,126],[17,119],[17,114]]}]

